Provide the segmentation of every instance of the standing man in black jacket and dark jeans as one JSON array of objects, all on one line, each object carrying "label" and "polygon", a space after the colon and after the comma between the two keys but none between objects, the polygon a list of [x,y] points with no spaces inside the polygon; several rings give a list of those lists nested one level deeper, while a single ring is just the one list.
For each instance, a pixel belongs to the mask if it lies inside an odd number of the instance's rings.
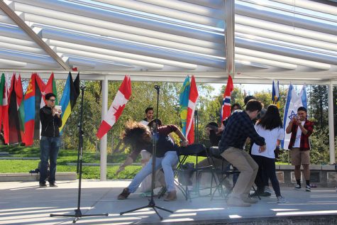
[{"label": "standing man in black jacket and dark jeans", "polygon": [[40,121],[42,124],[40,140],[40,187],[46,187],[45,179],[48,177],[48,159],[50,160],[50,174],[48,182],[50,187],[55,185],[56,160],[60,148],[60,127],[62,119],[60,109],[55,109],[55,94],[48,93],[45,95],[47,105],[40,109]]}]

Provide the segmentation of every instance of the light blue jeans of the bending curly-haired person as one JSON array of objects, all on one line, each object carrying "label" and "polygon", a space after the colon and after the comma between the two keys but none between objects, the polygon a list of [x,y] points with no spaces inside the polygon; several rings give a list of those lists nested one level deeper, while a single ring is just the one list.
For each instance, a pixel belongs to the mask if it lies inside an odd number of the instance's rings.
[{"label": "light blue jeans of the bending curly-haired person", "polygon": [[[155,171],[162,168],[164,170],[166,188],[168,192],[175,191],[175,174],[173,172],[172,166],[178,163],[178,155],[175,151],[168,151],[162,158],[155,158]],[[146,164],[128,185],[128,191],[133,193],[136,192],[140,183],[150,175],[152,172],[152,158]]]}]

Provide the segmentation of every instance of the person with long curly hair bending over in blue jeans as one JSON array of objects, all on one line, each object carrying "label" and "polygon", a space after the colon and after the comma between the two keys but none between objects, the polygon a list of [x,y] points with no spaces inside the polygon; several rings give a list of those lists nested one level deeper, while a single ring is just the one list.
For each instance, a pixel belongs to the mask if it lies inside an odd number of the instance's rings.
[{"label": "person with long curly hair bending over in blue jeans", "polygon": [[[151,121],[149,126],[155,121]],[[158,127],[158,132],[154,133],[150,131],[148,126],[144,126],[143,124],[129,121],[126,124],[126,129],[123,132],[123,142],[126,145],[130,145],[132,152],[128,156],[127,160],[121,167],[118,169],[120,172],[126,165],[130,165],[133,160],[136,160],[137,155],[140,153],[140,150],[147,150],[152,153],[153,150],[153,138],[157,142],[157,150],[155,153],[155,170],[159,170],[162,168],[164,170],[165,182],[167,187],[167,197],[165,197],[165,201],[174,201],[177,199],[177,191],[175,190],[174,183],[174,172],[172,166],[176,165],[178,162],[178,156],[176,152],[177,146],[173,143],[172,139],[168,136],[169,133],[175,132],[177,136],[182,140],[182,146],[185,147],[188,145],[187,139],[184,137],[182,132],[175,125],[167,125]],[[149,163],[145,165],[144,168],[138,172],[138,174],[133,177],[130,185],[123,189],[123,192],[118,195],[118,199],[126,199],[129,194],[136,192],[140,182],[143,179],[150,175],[152,172],[152,158],[149,160]],[[117,174],[118,174],[117,171]]]}]

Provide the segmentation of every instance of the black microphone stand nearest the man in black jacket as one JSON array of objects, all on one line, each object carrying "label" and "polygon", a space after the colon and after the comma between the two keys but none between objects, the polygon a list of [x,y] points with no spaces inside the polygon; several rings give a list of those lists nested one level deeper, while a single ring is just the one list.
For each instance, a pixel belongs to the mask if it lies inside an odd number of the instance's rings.
[{"label": "black microphone stand nearest the man in black jacket", "polygon": [[83,215],[81,212],[80,204],[81,204],[81,184],[82,184],[82,162],[83,162],[83,135],[84,132],[82,130],[82,123],[83,123],[83,99],[84,99],[84,89],[85,86],[81,87],[82,92],[82,98],[81,98],[81,111],[79,114],[79,187],[78,187],[78,196],[77,196],[77,209],[74,209],[74,214],[50,214],[50,217],[55,216],[64,216],[64,217],[75,217],[75,219],[72,221],[72,223],[76,223],[77,220],[81,217],[87,217],[87,216],[108,216],[108,214],[86,214]]}]

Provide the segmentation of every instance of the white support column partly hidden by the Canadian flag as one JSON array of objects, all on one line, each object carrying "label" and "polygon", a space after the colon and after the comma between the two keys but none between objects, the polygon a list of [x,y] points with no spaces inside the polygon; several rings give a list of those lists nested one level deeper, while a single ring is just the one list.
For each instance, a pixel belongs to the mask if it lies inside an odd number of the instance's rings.
[{"label": "white support column partly hidden by the Canadian flag", "polygon": [[[102,82],[102,100],[101,100],[101,118],[103,120],[106,112],[108,111],[108,78],[104,76],[104,80]],[[101,160],[100,160],[100,166],[101,166],[101,181],[106,181],[106,148],[108,146],[108,137],[107,135],[104,135],[101,138]]]}]

